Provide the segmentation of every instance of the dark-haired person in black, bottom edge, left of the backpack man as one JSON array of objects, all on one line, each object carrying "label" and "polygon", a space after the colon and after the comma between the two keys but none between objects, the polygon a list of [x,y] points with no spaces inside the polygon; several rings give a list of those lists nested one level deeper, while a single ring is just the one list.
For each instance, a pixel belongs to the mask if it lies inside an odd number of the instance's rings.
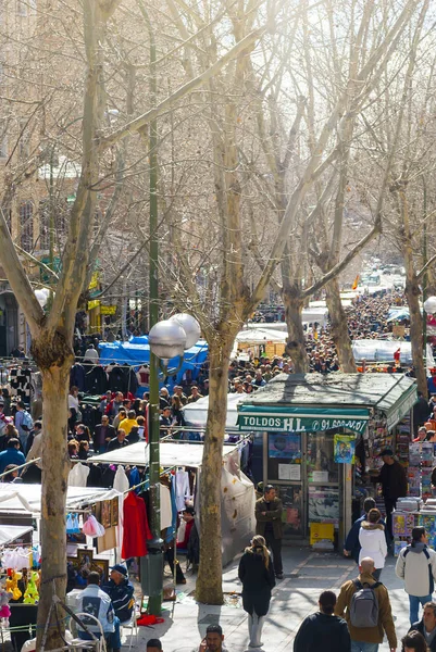
[{"label": "dark-haired person in black, bottom edge, left of the backpack man", "polygon": [[294,639],[294,652],[350,652],[351,639],[347,622],[333,615],[336,594],[323,591],[317,604],[320,611],[301,623]]}]

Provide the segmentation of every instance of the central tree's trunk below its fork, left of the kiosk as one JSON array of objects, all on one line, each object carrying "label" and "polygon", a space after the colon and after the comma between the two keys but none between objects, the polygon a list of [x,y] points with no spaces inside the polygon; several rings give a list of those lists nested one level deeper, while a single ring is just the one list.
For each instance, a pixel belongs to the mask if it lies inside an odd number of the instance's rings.
[{"label": "central tree's trunk below its fork, left of the kiosk", "polygon": [[205,604],[223,604],[221,469],[233,342],[234,337],[228,334],[209,342],[209,394],[213,397],[213,408],[208,411],[200,476],[200,568],[196,587],[196,599]]}]

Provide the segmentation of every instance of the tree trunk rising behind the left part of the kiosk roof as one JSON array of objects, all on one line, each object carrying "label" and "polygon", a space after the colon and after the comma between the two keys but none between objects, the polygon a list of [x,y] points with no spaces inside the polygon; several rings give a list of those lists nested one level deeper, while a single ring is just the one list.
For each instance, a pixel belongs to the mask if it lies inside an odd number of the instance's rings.
[{"label": "tree trunk rising behind the left part of the kiosk roof", "polygon": [[286,355],[290,355],[296,374],[307,374],[309,360],[306,352],[304,330],[302,327],[302,309],[304,300],[299,297],[298,288],[283,288],[282,299],[285,305],[285,319],[288,327]]}]

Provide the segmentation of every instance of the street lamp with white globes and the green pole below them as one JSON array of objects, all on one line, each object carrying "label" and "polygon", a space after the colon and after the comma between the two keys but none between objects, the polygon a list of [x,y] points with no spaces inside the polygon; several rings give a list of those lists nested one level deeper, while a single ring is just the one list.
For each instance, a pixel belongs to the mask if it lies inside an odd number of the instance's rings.
[{"label": "street lamp with white globes and the green pole below them", "polygon": [[[200,325],[190,315],[178,314],[157,322],[150,329],[150,402],[149,415],[149,485],[150,526],[153,538],[148,542],[149,555],[141,557],[142,589],[148,594],[148,612],[159,616],[162,610],[163,551],[161,539],[160,455],[159,455],[159,376],[174,375],[183,365],[184,352],[199,339]],[[170,360],[180,358],[176,368],[169,369]]]}]

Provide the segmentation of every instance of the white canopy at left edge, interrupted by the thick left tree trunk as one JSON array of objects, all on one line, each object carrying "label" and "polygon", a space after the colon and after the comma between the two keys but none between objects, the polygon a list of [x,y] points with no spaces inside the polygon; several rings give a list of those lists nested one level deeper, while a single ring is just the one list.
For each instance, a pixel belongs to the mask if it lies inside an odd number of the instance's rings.
[{"label": "white canopy at left edge, interrupted by the thick left tree trunk", "polygon": [[[80,505],[104,500],[108,493],[119,494],[114,489],[100,489],[96,487],[68,487],[66,493],[66,509],[79,509]],[[109,497],[108,497],[109,498]],[[41,511],[40,485],[0,484],[0,512],[32,512]],[[0,529],[2,529],[1,526]]]}]

